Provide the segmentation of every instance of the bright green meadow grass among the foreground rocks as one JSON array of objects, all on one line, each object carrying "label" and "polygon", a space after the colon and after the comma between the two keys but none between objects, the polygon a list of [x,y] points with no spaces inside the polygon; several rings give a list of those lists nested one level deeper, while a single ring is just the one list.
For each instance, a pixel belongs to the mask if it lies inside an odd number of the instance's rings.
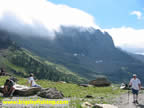
[{"label": "bright green meadow grass among the foreground rocks", "polygon": [[[0,86],[4,84],[5,80],[8,77],[0,78]],[[26,85],[26,78],[18,78],[18,84]],[[62,91],[64,96],[70,99],[70,106],[81,108],[81,104],[83,102],[90,102],[92,104],[95,103],[112,103],[112,99],[116,96],[119,96],[123,91],[119,89],[117,85],[113,85],[110,87],[81,87],[77,84],[72,83],[60,83],[60,82],[52,82],[48,80],[38,80],[37,84],[41,85],[44,88],[55,87],[59,91]],[[86,95],[93,96],[92,99],[85,98]],[[0,98],[1,99],[1,98]]]}]

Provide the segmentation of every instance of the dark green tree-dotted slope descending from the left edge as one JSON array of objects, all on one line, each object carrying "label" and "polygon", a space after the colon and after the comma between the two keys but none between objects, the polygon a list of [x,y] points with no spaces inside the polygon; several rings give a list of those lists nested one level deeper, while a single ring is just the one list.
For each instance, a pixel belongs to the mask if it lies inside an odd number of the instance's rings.
[{"label": "dark green tree-dotted slope descending from the left edge", "polygon": [[87,81],[62,65],[49,62],[24,48],[18,47],[4,31],[0,31],[0,67],[4,67],[10,74],[22,77],[28,77],[30,73],[34,73],[38,79],[51,81],[73,83]]}]

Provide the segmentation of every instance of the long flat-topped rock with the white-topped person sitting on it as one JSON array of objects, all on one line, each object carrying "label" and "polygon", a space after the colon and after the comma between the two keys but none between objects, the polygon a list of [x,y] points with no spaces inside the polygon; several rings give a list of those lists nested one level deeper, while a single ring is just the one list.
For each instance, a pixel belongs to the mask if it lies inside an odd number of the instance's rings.
[{"label": "long flat-topped rock with the white-topped person sitting on it", "polygon": [[[3,88],[4,86],[0,87],[1,93],[3,93]],[[13,94],[14,96],[32,96],[36,95],[41,90],[41,88],[39,87],[27,87],[19,84],[15,84],[14,88],[15,88],[15,92]]]}]

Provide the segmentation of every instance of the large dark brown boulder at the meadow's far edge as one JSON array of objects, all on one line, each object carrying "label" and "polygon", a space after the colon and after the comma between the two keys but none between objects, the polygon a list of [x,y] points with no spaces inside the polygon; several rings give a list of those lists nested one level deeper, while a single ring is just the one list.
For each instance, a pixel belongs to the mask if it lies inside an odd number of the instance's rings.
[{"label": "large dark brown boulder at the meadow's far edge", "polygon": [[110,86],[111,82],[106,77],[98,77],[96,80],[90,81],[89,84],[97,87],[105,87]]}]

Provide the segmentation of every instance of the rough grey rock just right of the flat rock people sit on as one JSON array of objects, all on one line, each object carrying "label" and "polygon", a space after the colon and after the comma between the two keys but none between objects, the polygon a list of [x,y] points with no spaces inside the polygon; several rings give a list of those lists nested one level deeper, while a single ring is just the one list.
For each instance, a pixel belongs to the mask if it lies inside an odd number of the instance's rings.
[{"label": "rough grey rock just right of the flat rock people sit on", "polygon": [[63,93],[56,88],[42,89],[37,95],[48,99],[62,99],[64,97]]}]

